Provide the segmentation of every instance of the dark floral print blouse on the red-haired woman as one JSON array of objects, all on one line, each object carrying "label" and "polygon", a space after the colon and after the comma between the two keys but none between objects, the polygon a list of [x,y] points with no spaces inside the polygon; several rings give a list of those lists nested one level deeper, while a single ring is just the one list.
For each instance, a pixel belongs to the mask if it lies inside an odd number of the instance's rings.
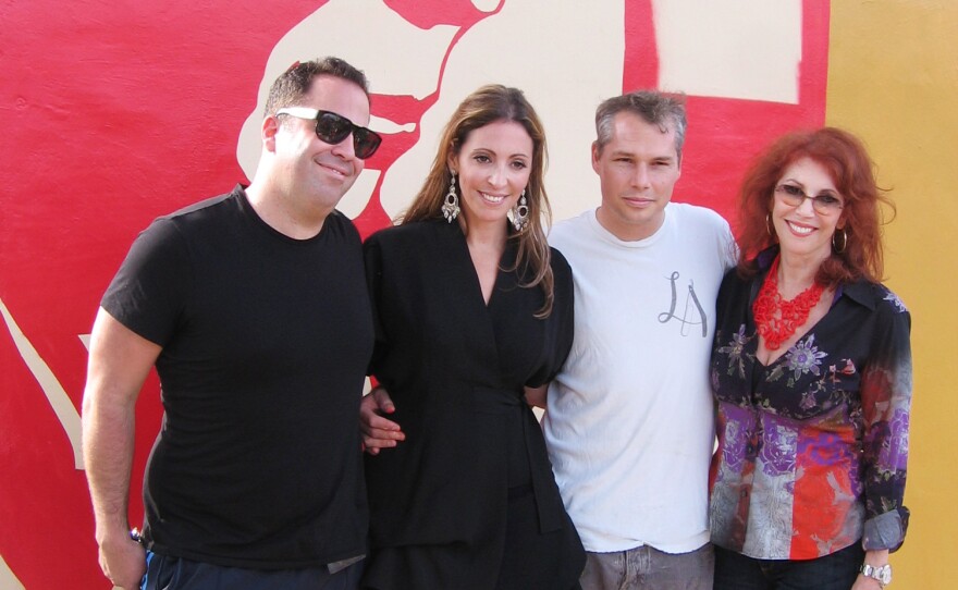
[{"label": "dark floral print blouse on the red-haired woman", "polygon": [[762,560],[814,558],[859,540],[894,551],[908,526],[911,318],[883,285],[845,284],[764,366],[751,307],[775,254],[760,255],[751,280],[730,271],[718,293],[712,541]]}]

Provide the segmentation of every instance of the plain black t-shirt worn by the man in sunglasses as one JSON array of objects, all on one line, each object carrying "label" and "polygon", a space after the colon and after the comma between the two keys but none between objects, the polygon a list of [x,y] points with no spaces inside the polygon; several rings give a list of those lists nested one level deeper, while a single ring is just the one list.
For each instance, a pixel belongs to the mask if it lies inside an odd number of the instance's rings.
[{"label": "plain black t-shirt worn by the man in sunglasses", "polygon": [[163,348],[147,546],[249,568],[365,552],[357,417],[373,335],[348,219],[293,239],[237,187],[157,219],[102,307]]}]

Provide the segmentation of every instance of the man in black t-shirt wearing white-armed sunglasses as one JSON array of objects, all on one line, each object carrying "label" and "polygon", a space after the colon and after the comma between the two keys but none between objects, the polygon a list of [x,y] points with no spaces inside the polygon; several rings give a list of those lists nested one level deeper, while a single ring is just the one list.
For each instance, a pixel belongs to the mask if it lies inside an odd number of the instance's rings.
[{"label": "man in black t-shirt wearing white-armed sunglasses", "polygon": [[[359,234],[334,208],[379,146],[368,122],[361,72],[294,64],[270,90],[249,187],[157,219],[103,296],[83,448],[115,586],[167,588],[176,573],[177,588],[356,588],[372,321]],[[134,406],[153,366],[164,415],[140,538]]]}]

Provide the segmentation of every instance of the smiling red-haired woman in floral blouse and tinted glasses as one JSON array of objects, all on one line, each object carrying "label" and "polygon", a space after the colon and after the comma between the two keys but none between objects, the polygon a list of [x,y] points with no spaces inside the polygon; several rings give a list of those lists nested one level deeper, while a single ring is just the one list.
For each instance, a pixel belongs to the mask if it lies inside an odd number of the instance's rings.
[{"label": "smiling red-haired woman in floral blouse and tinted glasses", "polygon": [[911,319],[880,283],[882,204],[861,142],[832,127],[782,137],[746,175],[711,362],[715,590],[891,581]]}]

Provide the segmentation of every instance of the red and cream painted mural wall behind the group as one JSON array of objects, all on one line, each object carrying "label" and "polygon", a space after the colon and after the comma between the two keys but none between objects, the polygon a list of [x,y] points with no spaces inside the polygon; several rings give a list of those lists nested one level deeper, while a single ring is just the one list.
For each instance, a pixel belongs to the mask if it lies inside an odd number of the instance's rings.
[{"label": "red and cream painted mural wall behind the group", "polygon": [[[86,337],[155,217],[251,174],[272,79],[337,54],[371,82],[384,136],[341,209],[364,235],[400,213],[440,125],[481,84],[523,88],[550,143],[554,217],[599,202],[593,113],[624,89],[688,97],[675,199],[732,214],[749,158],[824,121],[816,0],[133,0],[0,7],[0,588],[106,588],[82,470]],[[131,521],[159,426],[137,407]]]}]

